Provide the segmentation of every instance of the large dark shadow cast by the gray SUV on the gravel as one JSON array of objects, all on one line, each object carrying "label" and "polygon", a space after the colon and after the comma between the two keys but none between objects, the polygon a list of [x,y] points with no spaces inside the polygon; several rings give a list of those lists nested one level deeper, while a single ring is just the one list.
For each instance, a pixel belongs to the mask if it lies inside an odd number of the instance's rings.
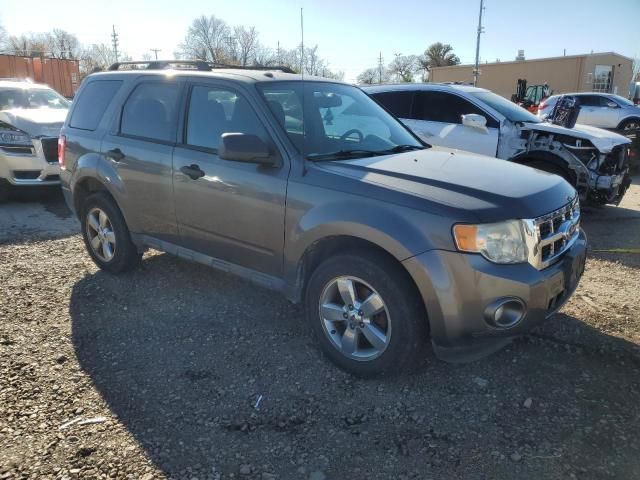
[{"label": "large dark shadow cast by the gray SUV on the gravel", "polygon": [[169,476],[640,478],[637,346],[566,315],[483,361],[363,381],[298,307],[167,255],[86,276],[70,314],[80,365]]}]

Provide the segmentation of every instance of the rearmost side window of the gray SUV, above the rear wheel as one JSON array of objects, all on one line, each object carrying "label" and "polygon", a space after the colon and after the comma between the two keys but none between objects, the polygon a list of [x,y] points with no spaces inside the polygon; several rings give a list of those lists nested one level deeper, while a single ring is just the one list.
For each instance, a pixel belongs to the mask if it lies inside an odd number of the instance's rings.
[{"label": "rearmost side window of the gray SUV, above the rear wheel", "polygon": [[113,97],[122,85],[122,80],[95,80],[82,90],[74,100],[75,107],[69,120],[71,128],[95,130]]}]

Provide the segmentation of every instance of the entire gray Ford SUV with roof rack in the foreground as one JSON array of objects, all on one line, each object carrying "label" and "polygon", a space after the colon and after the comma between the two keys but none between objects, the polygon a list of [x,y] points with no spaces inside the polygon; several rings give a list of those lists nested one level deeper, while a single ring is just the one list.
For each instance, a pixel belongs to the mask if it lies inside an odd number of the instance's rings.
[{"label": "entire gray Ford SUV with roof rack in the foreground", "polygon": [[427,339],[443,359],[486,355],[575,290],[587,242],[562,178],[431,148],[343,83],[135,66],[88,77],[60,137],[100,268],[153,248],[282,292],[363,376],[405,370]]}]

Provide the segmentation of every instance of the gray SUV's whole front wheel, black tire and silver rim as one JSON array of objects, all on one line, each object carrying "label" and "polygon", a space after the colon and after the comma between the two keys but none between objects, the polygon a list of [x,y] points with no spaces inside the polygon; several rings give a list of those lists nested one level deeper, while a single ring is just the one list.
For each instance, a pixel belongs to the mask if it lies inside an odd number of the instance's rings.
[{"label": "gray SUV's whole front wheel, black tire and silver rim", "polygon": [[402,373],[426,346],[427,318],[415,285],[381,254],[321,263],[309,279],[305,313],[322,351],[357,376]]}]

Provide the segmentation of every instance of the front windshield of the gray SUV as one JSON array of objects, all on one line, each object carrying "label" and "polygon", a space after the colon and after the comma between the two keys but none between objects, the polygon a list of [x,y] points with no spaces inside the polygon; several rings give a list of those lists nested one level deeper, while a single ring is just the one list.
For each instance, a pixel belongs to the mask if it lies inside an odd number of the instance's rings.
[{"label": "front windshield of the gray SUV", "polygon": [[354,158],[425,148],[356,87],[274,82],[258,88],[291,141],[307,158]]}]

